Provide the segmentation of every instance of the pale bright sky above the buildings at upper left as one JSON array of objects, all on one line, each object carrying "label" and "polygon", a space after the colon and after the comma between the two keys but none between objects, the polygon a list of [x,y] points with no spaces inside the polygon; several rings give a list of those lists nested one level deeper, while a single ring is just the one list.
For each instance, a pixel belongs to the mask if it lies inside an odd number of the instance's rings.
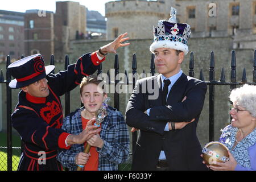
[{"label": "pale bright sky above the buildings at upper left", "polygon": [[[61,0],[59,0],[61,1]],[[105,3],[113,0],[73,0],[84,5],[89,10],[99,11],[105,16]],[[0,10],[18,11],[25,13],[26,10],[38,9],[55,12],[54,0],[1,0]]]}]

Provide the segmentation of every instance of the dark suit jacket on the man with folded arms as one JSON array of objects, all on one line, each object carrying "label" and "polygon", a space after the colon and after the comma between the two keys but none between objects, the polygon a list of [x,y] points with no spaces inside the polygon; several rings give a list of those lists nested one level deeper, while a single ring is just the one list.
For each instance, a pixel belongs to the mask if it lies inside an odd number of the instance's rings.
[{"label": "dark suit jacket on the man with folded arms", "polygon": [[[160,151],[164,150],[170,170],[206,170],[200,157],[196,136],[197,122],[204,105],[207,85],[184,73],[172,86],[167,105],[162,105],[160,75],[138,80],[126,108],[126,123],[140,129],[133,149],[133,170],[155,170]],[[146,86],[145,86],[146,85]],[[147,85],[154,85],[155,89]],[[155,100],[148,99],[159,93]],[[183,98],[187,96],[184,102]],[[150,116],[143,112],[151,108]],[[166,123],[195,121],[183,129],[164,131]]]}]

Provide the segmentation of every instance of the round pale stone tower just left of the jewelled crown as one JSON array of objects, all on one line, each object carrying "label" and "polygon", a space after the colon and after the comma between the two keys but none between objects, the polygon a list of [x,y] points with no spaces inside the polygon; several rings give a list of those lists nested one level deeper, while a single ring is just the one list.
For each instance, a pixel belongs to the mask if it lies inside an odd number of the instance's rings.
[{"label": "round pale stone tower just left of the jewelled crown", "polygon": [[170,14],[167,8],[170,9],[163,0],[121,0],[106,3],[107,40],[113,40],[124,32],[129,32],[131,39],[151,39],[153,26],[157,25],[159,19],[167,19]]}]

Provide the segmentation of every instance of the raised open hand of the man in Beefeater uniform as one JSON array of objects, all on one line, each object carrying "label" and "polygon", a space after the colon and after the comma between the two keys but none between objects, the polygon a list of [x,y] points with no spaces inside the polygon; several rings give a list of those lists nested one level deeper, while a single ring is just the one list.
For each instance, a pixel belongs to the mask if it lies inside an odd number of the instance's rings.
[{"label": "raised open hand of the man in Beefeater uniform", "polygon": [[[124,46],[129,46],[130,43],[124,43],[122,44],[122,42],[125,42],[126,40],[129,40],[130,38],[124,38],[127,35],[127,32],[125,34],[121,34],[118,36],[117,39],[115,39],[113,42],[106,44],[105,46],[101,47],[101,52],[102,53],[117,53],[117,49],[119,47],[124,47]],[[98,55],[100,55],[101,57],[104,57],[104,55],[101,55],[100,52],[98,52]]]}]

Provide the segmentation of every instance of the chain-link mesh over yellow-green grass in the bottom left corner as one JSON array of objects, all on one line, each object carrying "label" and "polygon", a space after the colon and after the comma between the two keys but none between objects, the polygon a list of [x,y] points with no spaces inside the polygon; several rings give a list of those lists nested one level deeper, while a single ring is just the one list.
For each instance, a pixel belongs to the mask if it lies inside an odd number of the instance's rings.
[{"label": "chain-link mesh over yellow-green grass in the bottom left corner", "polygon": [[[13,147],[13,171],[18,168],[20,152],[20,147]],[[0,171],[7,171],[7,147],[0,147]]]}]

